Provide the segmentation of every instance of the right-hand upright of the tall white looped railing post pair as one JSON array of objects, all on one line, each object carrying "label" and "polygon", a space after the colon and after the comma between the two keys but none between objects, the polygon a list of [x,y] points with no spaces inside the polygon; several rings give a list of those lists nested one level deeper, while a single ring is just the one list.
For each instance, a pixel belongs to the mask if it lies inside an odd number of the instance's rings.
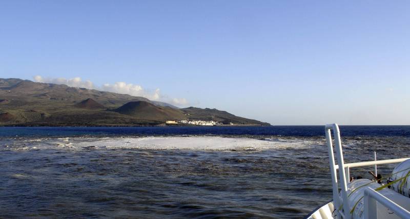
[{"label": "right-hand upright of the tall white looped railing post pair", "polygon": [[336,156],[337,162],[339,164],[339,178],[340,178],[340,189],[343,198],[343,211],[345,219],[350,219],[350,206],[347,199],[347,180],[346,174],[344,173],[344,161],[343,161],[343,152],[342,152],[342,143],[340,140],[340,131],[339,126],[337,124],[333,124],[333,135],[335,137],[335,148],[336,148]]}]

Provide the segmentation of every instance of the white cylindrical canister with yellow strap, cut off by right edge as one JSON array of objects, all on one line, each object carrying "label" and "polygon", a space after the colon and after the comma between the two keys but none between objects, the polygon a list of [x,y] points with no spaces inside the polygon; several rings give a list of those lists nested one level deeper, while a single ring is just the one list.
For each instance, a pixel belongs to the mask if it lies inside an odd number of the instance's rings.
[{"label": "white cylindrical canister with yellow strap, cut off by right edge", "polygon": [[[403,178],[404,177],[404,178]],[[410,198],[410,160],[405,160],[394,168],[392,176],[389,177],[388,182],[399,180],[391,185],[391,189]]]}]

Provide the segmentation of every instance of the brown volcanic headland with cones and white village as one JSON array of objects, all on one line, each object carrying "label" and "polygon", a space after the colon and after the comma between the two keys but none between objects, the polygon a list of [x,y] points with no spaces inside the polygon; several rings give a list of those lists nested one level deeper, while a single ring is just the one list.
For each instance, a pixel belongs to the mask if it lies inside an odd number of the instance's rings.
[{"label": "brown volcanic headland with cones and white village", "polygon": [[0,126],[270,126],[209,108],[140,96],[0,79]]}]

